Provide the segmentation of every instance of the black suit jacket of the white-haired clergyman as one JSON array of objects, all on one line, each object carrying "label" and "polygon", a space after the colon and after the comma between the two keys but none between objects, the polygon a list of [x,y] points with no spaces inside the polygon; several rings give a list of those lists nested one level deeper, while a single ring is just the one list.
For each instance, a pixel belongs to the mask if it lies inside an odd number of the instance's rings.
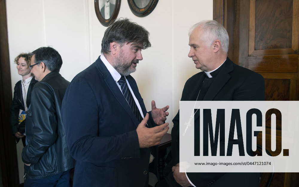
[{"label": "black suit jacket of the white-haired clergyman", "polygon": [[[218,75],[210,85],[203,101],[264,101],[264,78],[249,69],[234,64],[229,58],[222,64]],[[192,101],[197,95],[205,72],[199,72],[189,78],[184,86],[181,101]],[[194,116],[194,124],[199,124],[199,112]],[[179,112],[173,119],[172,156],[173,159],[164,171],[166,180],[170,186],[180,186],[174,181],[171,168],[179,163]],[[220,142],[222,140],[219,140]],[[187,173],[191,182],[199,186],[257,186],[259,173]]]}]

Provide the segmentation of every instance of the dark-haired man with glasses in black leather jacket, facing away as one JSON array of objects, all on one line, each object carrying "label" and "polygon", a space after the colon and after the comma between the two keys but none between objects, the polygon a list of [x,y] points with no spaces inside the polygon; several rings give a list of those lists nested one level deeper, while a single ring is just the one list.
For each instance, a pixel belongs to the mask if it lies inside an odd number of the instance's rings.
[{"label": "dark-haired man with glasses in black leather jacket, facing away", "polygon": [[60,74],[60,54],[51,47],[32,52],[30,69],[36,83],[26,121],[27,145],[22,152],[25,187],[69,187],[74,160],[66,148],[61,103],[69,82]]}]

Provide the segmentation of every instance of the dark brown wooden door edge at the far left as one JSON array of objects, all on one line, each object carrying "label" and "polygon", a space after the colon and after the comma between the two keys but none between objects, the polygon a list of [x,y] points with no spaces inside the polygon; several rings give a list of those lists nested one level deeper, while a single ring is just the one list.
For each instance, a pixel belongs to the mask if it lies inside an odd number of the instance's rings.
[{"label": "dark brown wooden door edge at the far left", "polygon": [[12,103],[5,0],[0,0],[0,186],[19,186],[16,140],[11,135]]}]

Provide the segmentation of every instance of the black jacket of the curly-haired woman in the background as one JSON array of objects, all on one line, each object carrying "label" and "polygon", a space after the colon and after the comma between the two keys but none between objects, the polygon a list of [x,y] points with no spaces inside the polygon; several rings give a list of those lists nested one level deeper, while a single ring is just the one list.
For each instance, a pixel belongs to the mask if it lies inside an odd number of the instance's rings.
[{"label": "black jacket of the curly-haired woman in the background", "polygon": [[[28,92],[27,92],[27,100],[26,105],[30,106],[30,97],[31,97],[31,91],[33,89],[33,86],[35,85],[37,81],[34,79],[34,77],[31,79]],[[25,121],[22,121],[22,123],[19,124],[19,112],[21,110],[25,111],[24,101],[23,101],[23,95],[22,95],[22,84],[21,80],[18,81],[15,85],[14,92],[13,92],[13,103],[10,107],[10,124],[12,129],[12,134],[15,135],[16,132],[20,132],[20,129],[25,130]],[[21,132],[24,133],[24,132]]]}]

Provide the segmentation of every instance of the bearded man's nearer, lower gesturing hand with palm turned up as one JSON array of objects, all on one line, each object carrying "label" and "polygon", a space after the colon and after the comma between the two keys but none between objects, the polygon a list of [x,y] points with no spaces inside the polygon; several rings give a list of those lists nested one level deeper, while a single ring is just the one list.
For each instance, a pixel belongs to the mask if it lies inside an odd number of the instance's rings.
[{"label": "bearded man's nearer, lower gesturing hand with palm turned up", "polygon": [[147,123],[148,119],[149,114],[147,113],[147,115],[144,117],[141,123],[139,123],[136,129],[140,148],[158,145],[162,137],[167,133],[169,129],[168,123],[164,123],[153,128],[147,128],[145,124]]}]

